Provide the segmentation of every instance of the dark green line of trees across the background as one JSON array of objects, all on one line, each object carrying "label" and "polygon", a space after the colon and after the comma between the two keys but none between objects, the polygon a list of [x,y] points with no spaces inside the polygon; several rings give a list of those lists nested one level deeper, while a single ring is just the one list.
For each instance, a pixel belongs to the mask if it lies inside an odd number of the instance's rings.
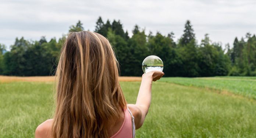
[{"label": "dark green line of trees across the background", "polygon": [[[70,26],[69,32],[84,30],[81,21]],[[131,37],[124,31],[120,20],[103,22],[99,17],[95,32],[105,36],[113,45],[120,63],[121,76],[141,76],[142,61],[149,55],[157,55],[164,62],[165,76],[256,76],[256,37],[247,33],[245,38],[236,37],[231,48],[214,43],[208,34],[198,43],[191,22],[186,21],[184,33],[175,42],[174,33],[153,35],[135,25]],[[58,55],[67,35],[47,41],[28,41],[16,38],[6,51],[0,44],[0,75],[47,76],[54,75]]]}]

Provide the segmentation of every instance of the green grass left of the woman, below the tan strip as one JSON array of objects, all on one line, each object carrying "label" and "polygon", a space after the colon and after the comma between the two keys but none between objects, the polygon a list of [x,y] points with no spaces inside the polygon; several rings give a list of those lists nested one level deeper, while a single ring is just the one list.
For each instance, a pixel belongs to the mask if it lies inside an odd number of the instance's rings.
[{"label": "green grass left of the woman, below the tan strip", "polygon": [[0,83],[0,138],[32,138],[50,118],[53,83]]}]

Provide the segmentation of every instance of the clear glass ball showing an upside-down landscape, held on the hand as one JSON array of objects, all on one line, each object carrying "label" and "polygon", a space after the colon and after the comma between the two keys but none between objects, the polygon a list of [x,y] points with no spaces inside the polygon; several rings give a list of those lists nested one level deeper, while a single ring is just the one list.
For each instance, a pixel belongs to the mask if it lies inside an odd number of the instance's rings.
[{"label": "clear glass ball showing an upside-down landscape, held on the hand", "polygon": [[159,70],[163,71],[164,69],[164,63],[161,60],[161,58],[150,55],[146,57],[142,62],[142,70],[144,73],[150,72],[152,70]]}]

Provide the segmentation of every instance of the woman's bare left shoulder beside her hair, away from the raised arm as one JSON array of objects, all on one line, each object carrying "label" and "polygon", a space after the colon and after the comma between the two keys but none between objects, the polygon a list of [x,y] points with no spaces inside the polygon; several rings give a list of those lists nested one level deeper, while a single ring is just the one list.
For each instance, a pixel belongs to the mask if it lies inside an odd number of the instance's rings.
[{"label": "woman's bare left shoulder beside her hair, away from the raised arm", "polygon": [[53,119],[48,119],[36,128],[35,138],[51,138]]}]

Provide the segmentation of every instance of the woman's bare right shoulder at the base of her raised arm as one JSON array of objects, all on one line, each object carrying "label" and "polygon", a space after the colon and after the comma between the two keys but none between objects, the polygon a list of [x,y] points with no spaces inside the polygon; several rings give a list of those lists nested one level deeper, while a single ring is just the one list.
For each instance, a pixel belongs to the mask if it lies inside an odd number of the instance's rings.
[{"label": "woman's bare right shoulder at the base of her raised arm", "polygon": [[143,124],[141,109],[134,104],[128,104],[127,106],[134,116],[135,128],[139,129]]}]

